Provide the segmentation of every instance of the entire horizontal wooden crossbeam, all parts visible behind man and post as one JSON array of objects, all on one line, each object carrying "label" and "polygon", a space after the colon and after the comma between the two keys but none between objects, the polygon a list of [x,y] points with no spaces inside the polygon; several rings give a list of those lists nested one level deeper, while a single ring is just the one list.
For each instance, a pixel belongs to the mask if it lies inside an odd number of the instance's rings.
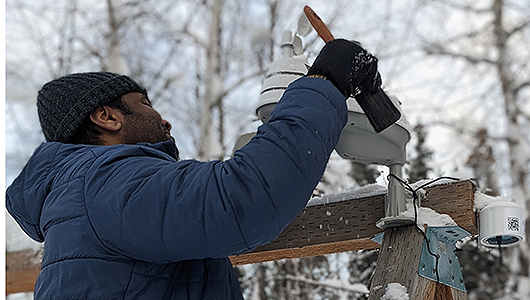
[{"label": "entire horizontal wooden crossbeam, all parts visible behind man and post", "polygon": [[[477,233],[473,212],[475,186],[470,181],[439,184],[425,190],[423,207],[448,214],[460,227]],[[384,216],[384,199],[385,194],[381,193],[327,196],[323,203],[307,206],[273,242],[230,259],[234,265],[242,265],[379,248],[371,238],[381,232],[375,223]],[[40,270],[40,260],[35,257],[39,256],[34,250],[7,253],[7,294],[33,291]]]}]

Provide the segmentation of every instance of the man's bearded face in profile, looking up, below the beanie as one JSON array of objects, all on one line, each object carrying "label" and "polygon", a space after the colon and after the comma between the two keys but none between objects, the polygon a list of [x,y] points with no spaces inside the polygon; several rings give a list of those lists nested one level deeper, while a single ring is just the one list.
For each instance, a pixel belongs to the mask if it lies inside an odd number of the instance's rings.
[{"label": "man's bearded face in profile, looking up, below the beanie", "polygon": [[151,102],[141,93],[129,93],[122,96],[123,103],[130,108],[131,114],[124,114],[123,141],[126,144],[141,142],[158,143],[168,139],[175,140],[170,134],[171,124],[162,120],[153,109]]}]

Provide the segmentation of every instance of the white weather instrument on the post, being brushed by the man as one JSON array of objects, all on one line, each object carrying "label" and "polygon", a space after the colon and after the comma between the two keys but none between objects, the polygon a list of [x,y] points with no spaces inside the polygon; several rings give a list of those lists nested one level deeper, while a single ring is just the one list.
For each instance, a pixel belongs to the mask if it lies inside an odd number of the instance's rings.
[{"label": "white weather instrument on the post, being brushed by the man", "polygon": [[[267,72],[256,107],[256,115],[263,123],[268,122],[274,106],[287,86],[304,76],[309,70],[299,35],[306,35],[310,30],[309,21],[302,14],[296,32],[293,34],[291,31],[285,31],[282,34],[280,43],[282,57],[275,61]],[[390,99],[393,105],[400,110],[397,98],[390,97]],[[388,166],[390,174],[402,178],[405,147],[410,140],[410,125],[401,110],[401,118],[397,122],[377,133],[354,98],[349,98],[347,105],[348,123],[335,148],[337,153],[344,158],[363,164]],[[241,148],[253,136],[253,133],[241,136],[234,149]],[[385,206],[386,216],[378,222],[379,227],[385,229],[414,223],[414,218],[405,217],[402,214],[406,211],[405,190],[393,176],[389,179]]]}]

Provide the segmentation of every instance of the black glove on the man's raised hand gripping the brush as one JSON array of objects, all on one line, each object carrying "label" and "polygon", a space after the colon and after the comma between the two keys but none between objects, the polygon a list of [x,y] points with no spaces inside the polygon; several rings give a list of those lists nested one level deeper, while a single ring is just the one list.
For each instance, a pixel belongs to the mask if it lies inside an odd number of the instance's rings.
[{"label": "black glove on the man's raised hand gripping the brush", "polygon": [[320,51],[307,76],[318,75],[330,80],[339,91],[349,97],[362,92],[375,92],[381,87],[377,58],[357,42],[336,39]]}]

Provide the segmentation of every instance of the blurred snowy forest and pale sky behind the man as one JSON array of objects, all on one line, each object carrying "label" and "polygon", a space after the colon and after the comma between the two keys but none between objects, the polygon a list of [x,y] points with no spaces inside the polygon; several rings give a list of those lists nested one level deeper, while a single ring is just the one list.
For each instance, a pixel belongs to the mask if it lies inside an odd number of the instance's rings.
[{"label": "blurred snowy forest and pale sky behind the man", "polygon": [[[6,185],[44,141],[36,95],[53,78],[106,70],[144,85],[181,158],[225,159],[255,131],[261,82],[284,30],[310,5],[335,37],[379,58],[412,124],[406,179],[476,178],[530,208],[527,0],[7,0]],[[324,43],[303,37],[312,62]],[[386,184],[385,168],[333,155],[317,193]],[[7,251],[38,248],[7,220]],[[530,299],[527,242],[459,253],[470,299]],[[246,299],[366,299],[377,251],[238,267]],[[357,287],[357,288],[356,288]],[[18,297],[18,298],[16,298]],[[12,299],[29,297],[10,296]]]}]

